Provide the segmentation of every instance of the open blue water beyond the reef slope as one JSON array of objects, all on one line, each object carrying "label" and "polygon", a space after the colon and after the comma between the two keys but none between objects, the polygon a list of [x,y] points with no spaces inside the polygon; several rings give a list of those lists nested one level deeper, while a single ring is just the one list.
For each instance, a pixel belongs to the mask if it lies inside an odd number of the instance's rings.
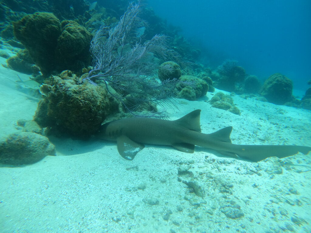
[{"label": "open blue water beyond the reef slope", "polygon": [[305,91],[311,78],[309,0],[148,0],[157,15],[207,48],[208,62],[239,61],[264,80],[279,72]]}]

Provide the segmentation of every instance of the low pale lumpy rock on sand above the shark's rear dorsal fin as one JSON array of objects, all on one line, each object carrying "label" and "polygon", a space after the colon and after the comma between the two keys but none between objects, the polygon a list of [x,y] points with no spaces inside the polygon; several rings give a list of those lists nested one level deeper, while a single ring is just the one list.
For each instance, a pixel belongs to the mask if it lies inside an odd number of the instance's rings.
[{"label": "low pale lumpy rock on sand above the shark's rear dorsal fin", "polygon": [[216,107],[219,109],[227,110],[232,112],[236,115],[240,115],[240,110],[237,108],[234,103],[233,99],[230,95],[226,95],[222,92],[217,92],[210,100],[210,104],[212,107]]}]

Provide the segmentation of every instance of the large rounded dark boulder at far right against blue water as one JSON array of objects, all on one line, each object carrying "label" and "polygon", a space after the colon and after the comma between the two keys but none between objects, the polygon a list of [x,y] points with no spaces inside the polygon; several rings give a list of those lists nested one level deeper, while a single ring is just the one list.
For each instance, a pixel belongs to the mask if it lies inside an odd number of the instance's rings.
[{"label": "large rounded dark boulder at far right against blue water", "polygon": [[282,105],[292,100],[292,92],[292,80],[280,73],[276,73],[264,82],[259,94],[270,103]]}]

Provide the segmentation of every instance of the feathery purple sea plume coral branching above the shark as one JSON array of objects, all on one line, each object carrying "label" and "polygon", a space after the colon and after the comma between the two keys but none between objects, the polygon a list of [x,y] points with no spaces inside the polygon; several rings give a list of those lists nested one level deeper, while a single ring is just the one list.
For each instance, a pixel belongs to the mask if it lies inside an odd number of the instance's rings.
[{"label": "feathery purple sea plume coral branching above the shark", "polygon": [[[154,57],[176,61],[178,54],[167,46],[168,38],[164,35],[155,35],[142,43],[137,30],[144,22],[138,13],[139,4],[130,3],[118,25],[100,27],[91,41],[93,69],[82,80],[93,84],[104,82],[109,94],[136,116],[135,110],[144,103],[174,104],[168,97],[180,83],[178,79],[162,82],[151,79],[158,68]],[[167,69],[170,71],[169,66]],[[160,101],[163,99],[166,102]]]}]

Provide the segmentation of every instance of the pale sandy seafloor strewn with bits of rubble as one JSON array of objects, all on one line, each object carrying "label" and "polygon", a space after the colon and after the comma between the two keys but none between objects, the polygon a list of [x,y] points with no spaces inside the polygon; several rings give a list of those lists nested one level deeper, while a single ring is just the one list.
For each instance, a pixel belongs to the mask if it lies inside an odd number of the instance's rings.
[{"label": "pale sandy seafloor strewn with bits of rubble", "polygon": [[[20,131],[16,121],[37,107],[16,74],[29,77],[0,67],[1,137]],[[171,120],[202,109],[202,132],[233,126],[235,144],[311,145],[310,111],[234,96],[238,116],[212,108],[211,97],[180,100]],[[127,161],[113,142],[50,140],[57,156],[0,167],[0,232],[311,232],[311,155],[256,163],[146,145]]]}]

